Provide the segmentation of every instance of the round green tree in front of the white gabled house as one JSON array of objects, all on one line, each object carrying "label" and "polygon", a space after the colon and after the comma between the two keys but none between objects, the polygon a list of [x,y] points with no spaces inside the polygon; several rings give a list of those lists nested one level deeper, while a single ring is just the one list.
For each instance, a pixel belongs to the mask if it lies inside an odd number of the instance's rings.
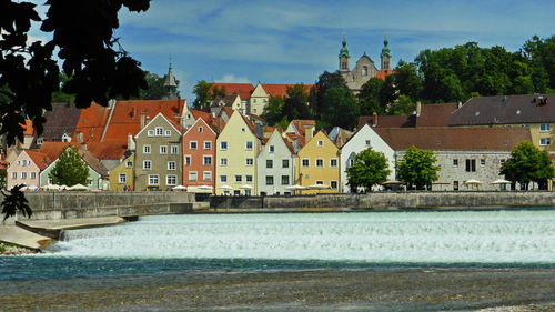
[{"label": "round green tree in front of the white gabled house", "polygon": [[356,192],[359,187],[371,191],[373,185],[385,182],[390,173],[385,155],[367,148],[357,153],[353,164],[346,169],[347,184],[351,192]]}]

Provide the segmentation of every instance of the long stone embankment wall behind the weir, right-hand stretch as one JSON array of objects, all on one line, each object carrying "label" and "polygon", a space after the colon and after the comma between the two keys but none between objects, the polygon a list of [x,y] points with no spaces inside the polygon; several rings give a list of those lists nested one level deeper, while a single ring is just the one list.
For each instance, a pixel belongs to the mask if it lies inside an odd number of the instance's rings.
[{"label": "long stone embankment wall behind the weir, right-hand stretch", "polygon": [[376,192],[303,197],[212,197],[210,208],[555,207],[554,192]]}]

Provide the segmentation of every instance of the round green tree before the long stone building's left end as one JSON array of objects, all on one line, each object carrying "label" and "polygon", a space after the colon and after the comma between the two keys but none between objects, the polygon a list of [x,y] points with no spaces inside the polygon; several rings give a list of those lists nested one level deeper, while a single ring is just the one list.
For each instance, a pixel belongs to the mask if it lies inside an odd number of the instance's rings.
[{"label": "round green tree before the long stone building's left end", "polygon": [[434,165],[436,161],[433,151],[411,147],[406,149],[403,159],[396,162],[397,179],[410,189],[415,187],[416,190],[423,190],[440,178],[440,167]]}]

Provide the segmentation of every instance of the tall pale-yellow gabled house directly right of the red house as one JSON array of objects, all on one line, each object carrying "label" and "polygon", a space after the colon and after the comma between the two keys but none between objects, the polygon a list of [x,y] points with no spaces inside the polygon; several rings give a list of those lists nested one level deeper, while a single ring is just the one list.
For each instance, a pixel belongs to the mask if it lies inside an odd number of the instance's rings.
[{"label": "tall pale-yellow gabled house directly right of the red house", "polygon": [[216,140],[215,193],[258,194],[256,157],[260,139],[254,125],[233,112]]}]

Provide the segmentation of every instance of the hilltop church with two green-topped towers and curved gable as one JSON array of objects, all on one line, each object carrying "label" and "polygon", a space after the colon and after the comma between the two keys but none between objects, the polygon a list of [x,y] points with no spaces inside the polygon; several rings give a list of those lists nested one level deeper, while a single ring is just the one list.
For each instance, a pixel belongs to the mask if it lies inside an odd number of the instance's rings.
[{"label": "hilltop church with two green-topped towers and curved gable", "polygon": [[364,83],[366,83],[371,78],[376,77],[382,80],[394,71],[391,69],[391,50],[387,47],[389,41],[385,39],[383,41],[382,53],[380,54],[381,64],[380,70],[376,68],[374,61],[366,56],[366,52],[356,61],[353,70],[350,67],[351,56],[349,54],[349,49],[346,47],[346,40],[343,38],[343,48],[340,50],[340,73],[345,79],[345,82],[354,93],[359,93]]}]

